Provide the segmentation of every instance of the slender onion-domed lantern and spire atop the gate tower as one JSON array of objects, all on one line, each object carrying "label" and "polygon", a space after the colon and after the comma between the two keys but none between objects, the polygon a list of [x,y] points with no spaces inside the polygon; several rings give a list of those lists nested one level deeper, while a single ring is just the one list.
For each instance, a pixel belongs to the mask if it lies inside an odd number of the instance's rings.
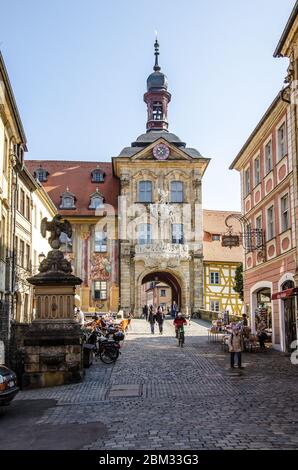
[{"label": "slender onion-domed lantern and spire atop the gate tower", "polygon": [[144,94],[148,113],[147,132],[168,130],[168,104],[171,101],[171,95],[168,92],[168,79],[160,71],[158,64],[159,43],[157,39],[154,43],[154,49],[154,72],[147,78],[147,93]]}]

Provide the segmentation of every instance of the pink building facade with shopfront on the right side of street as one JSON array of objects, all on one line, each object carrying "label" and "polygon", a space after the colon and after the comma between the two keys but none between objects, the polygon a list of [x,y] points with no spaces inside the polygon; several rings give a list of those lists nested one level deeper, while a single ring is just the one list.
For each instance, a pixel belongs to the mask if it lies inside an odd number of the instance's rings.
[{"label": "pink building facade with shopfront on the right side of street", "polygon": [[244,302],[253,330],[262,314],[276,349],[296,338],[292,294],[296,271],[296,223],[291,109],[279,94],[231,165],[240,172],[245,218]]}]

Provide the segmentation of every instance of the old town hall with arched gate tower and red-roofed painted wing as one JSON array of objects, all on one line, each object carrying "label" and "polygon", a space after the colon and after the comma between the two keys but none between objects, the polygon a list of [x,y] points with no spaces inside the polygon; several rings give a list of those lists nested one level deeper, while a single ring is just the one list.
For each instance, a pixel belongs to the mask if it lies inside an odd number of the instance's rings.
[{"label": "old town hall with arched gate tower and red-roofed painted wing", "polygon": [[64,251],[86,312],[142,310],[142,286],[165,283],[186,313],[203,305],[202,177],[209,159],[168,131],[171,94],[155,42],[147,128],[112,163],[27,161],[73,226]]}]

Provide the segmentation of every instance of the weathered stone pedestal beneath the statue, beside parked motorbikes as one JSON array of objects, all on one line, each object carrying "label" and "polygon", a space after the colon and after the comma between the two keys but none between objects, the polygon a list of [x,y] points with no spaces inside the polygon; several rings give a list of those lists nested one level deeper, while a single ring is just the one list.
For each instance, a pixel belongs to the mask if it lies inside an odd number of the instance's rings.
[{"label": "weathered stone pedestal beneath the statue, beside parked motorbikes", "polygon": [[59,250],[50,251],[35,286],[35,320],[24,339],[24,389],[80,382],[83,379],[82,331],[74,319],[75,286],[81,279]]}]

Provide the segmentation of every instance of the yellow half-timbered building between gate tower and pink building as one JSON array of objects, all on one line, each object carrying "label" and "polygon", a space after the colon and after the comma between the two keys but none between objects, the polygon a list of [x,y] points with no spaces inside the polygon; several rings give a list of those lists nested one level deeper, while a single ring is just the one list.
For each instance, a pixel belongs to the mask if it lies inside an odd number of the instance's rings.
[{"label": "yellow half-timbered building between gate tower and pink building", "polygon": [[[203,210],[204,308],[241,315],[243,303],[233,286],[236,268],[242,263],[243,249],[241,246],[232,249],[222,246],[222,235],[228,230],[225,220],[230,214]],[[237,220],[233,220],[233,230],[241,232]]]}]

